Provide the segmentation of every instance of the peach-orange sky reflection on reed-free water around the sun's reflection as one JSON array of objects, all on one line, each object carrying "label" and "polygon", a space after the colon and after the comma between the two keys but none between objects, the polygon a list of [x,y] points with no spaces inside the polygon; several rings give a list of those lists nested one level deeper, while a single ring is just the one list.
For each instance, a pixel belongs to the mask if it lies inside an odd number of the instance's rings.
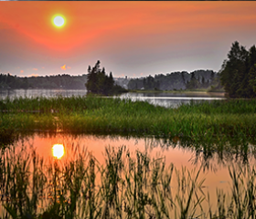
[{"label": "peach-orange sky reflection on reed-free water around the sun's reflection", "polygon": [[[33,137],[27,138],[27,140],[19,141],[18,145],[25,144],[27,147],[33,145],[37,154],[44,158],[52,157],[52,146],[54,144],[63,144],[65,147],[65,154],[61,159],[69,159],[70,148],[79,146],[82,150],[87,150],[97,159],[101,164],[104,163],[105,147],[112,146],[115,149],[125,145],[132,155],[135,151],[147,152],[151,158],[165,158],[167,165],[173,163],[175,167],[180,170],[182,167],[186,167],[187,170],[199,169],[201,163],[205,162],[202,156],[196,159],[196,151],[191,147],[181,147],[179,142],[170,145],[164,140],[155,140],[154,138],[126,138],[126,137],[112,137],[112,136],[93,136],[93,135],[70,135],[70,134],[54,134],[54,135],[39,135],[34,134]],[[66,150],[68,151],[66,154]],[[86,151],[85,150],[85,151]],[[224,158],[225,159],[225,158]],[[210,158],[209,166],[201,172],[201,178],[206,178],[205,186],[209,193],[215,195],[216,188],[223,189],[229,186],[229,165],[234,162],[230,159],[219,162],[219,155],[213,154]],[[255,163],[255,160],[251,158],[250,162]]]}]

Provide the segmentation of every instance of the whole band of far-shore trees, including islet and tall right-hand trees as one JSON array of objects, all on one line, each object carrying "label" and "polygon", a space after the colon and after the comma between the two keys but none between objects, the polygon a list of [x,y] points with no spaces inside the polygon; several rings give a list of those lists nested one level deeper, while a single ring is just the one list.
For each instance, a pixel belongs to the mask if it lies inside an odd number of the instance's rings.
[{"label": "whole band of far-shore trees, including islet and tall right-hand trees", "polygon": [[249,50],[235,41],[219,72],[195,70],[172,72],[144,78],[113,78],[98,61],[82,76],[56,75],[20,78],[0,74],[0,89],[87,89],[91,93],[110,95],[129,90],[195,90],[225,91],[229,98],[256,97],[256,47]]}]

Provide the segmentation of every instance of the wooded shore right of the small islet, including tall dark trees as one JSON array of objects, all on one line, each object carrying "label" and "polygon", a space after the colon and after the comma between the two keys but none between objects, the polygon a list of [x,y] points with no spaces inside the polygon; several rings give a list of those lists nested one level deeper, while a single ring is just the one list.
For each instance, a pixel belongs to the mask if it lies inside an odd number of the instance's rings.
[{"label": "wooded shore right of the small islet, including tall dark trees", "polygon": [[146,78],[133,78],[128,89],[208,89],[225,90],[230,98],[256,98],[256,47],[249,50],[235,41],[219,72],[197,70],[174,72]]}]

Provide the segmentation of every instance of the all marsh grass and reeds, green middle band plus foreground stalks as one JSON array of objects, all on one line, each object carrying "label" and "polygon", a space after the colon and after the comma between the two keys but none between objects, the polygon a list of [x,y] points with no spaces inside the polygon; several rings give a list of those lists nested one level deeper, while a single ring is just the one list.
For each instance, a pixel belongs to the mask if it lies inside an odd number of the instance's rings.
[{"label": "all marsh grass and reeds, green middle band plus foreground stalks", "polygon": [[[88,97],[0,100],[2,218],[254,218],[255,99],[190,101],[178,108]],[[106,147],[104,162],[71,144],[45,159],[16,140],[35,132],[155,136],[195,151],[193,171],[146,151]],[[229,166],[229,191],[205,193],[209,161]],[[251,155],[250,155],[251,156]],[[232,160],[233,159],[233,160]],[[198,162],[200,161],[200,162]]]}]

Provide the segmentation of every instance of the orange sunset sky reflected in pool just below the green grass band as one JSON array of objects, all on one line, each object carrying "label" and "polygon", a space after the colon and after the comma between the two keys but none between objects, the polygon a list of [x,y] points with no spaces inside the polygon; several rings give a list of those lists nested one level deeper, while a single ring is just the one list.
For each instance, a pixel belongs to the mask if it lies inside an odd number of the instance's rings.
[{"label": "orange sunset sky reflected in pool just below the green grass band", "polygon": [[[218,141],[217,141],[218,142]],[[53,157],[52,147],[53,145],[63,145],[65,153],[63,157],[56,159]],[[254,147],[249,144],[248,162],[243,163],[242,154],[240,158],[236,156],[242,151],[241,148],[234,149],[238,151],[234,154],[233,150],[229,148],[223,151],[217,151],[219,149],[216,143],[206,150],[206,147],[195,147],[193,144],[186,142],[181,143],[178,137],[171,140],[155,139],[154,137],[122,137],[122,136],[95,136],[86,134],[68,134],[68,133],[34,133],[30,136],[24,137],[16,142],[15,151],[16,154],[29,154],[29,151],[36,151],[37,155],[45,161],[52,163],[54,161],[61,163],[65,167],[65,163],[76,161],[81,156],[82,158],[88,158],[93,156],[96,159],[97,165],[104,167],[106,162],[106,148],[112,147],[115,151],[121,146],[126,147],[126,151],[130,151],[131,158],[136,161],[136,151],[146,153],[147,156],[153,161],[156,158],[162,158],[166,164],[166,171],[168,171],[169,165],[174,164],[177,172],[182,172],[184,168],[188,172],[198,171],[201,167],[198,182],[205,179],[203,183],[203,193],[209,194],[211,202],[216,203],[217,189],[230,192],[231,180],[229,177],[229,167],[232,164],[240,163],[240,165],[255,164],[255,157],[253,155]],[[221,144],[219,144],[221,146]],[[231,145],[232,146],[232,145]],[[232,146],[233,147],[233,146]],[[74,153],[74,151],[77,151]],[[255,151],[255,150],[254,150]],[[75,154],[75,155],[74,155]],[[126,152],[123,153],[125,157]],[[172,176],[171,187],[177,187],[176,173]],[[98,180],[97,180],[98,179]],[[101,183],[101,179],[96,177],[96,183]],[[206,209],[208,206],[205,206]]]}]

